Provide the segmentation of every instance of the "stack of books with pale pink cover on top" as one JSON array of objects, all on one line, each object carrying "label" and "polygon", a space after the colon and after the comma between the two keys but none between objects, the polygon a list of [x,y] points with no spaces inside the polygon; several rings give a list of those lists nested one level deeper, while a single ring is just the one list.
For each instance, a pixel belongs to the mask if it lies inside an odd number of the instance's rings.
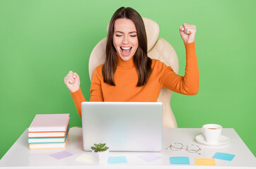
[{"label": "stack of books with pale pink cover on top", "polygon": [[63,149],[69,139],[69,114],[37,114],[28,127],[29,149]]}]

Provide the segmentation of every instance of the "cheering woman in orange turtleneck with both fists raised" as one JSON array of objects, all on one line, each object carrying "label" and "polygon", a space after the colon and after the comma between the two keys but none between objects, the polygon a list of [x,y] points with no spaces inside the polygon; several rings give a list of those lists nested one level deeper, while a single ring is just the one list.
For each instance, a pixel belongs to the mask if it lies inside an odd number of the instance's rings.
[{"label": "cheering woman in orange turtleneck with both fists raised", "polygon": [[[182,77],[170,66],[147,56],[146,30],[141,15],[133,8],[119,8],[110,20],[105,63],[93,72],[90,101],[155,102],[162,87],[180,94],[197,94],[199,70],[195,32],[194,25],[180,26],[187,57]],[[79,76],[69,71],[64,82],[81,116],[81,102],[86,99],[81,93]]]}]

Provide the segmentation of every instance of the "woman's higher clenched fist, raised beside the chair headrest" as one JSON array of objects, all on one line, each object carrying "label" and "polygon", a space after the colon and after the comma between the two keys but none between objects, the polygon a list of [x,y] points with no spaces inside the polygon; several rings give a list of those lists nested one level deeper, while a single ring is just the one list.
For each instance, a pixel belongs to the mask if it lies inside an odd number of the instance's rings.
[{"label": "woman's higher clenched fist, raised beside the chair headrest", "polygon": [[180,26],[180,36],[184,40],[184,42],[187,42],[187,43],[194,42],[196,31],[197,31],[197,27],[195,25],[183,23],[183,25]]}]

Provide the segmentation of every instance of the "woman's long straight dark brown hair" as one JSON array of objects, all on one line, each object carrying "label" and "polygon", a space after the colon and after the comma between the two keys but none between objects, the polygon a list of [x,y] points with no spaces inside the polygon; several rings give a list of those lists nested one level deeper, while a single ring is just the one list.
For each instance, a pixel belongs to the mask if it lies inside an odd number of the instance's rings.
[{"label": "woman's long straight dark brown hair", "polygon": [[129,7],[121,7],[117,9],[110,20],[109,29],[107,32],[106,60],[102,70],[103,79],[107,84],[115,86],[114,74],[115,70],[117,69],[117,54],[112,41],[114,35],[115,20],[119,18],[127,18],[132,20],[136,27],[139,46],[133,56],[133,59],[138,73],[137,87],[140,87],[146,84],[147,80],[149,79],[149,75],[151,75],[152,60],[147,56],[148,44],[146,40],[146,30],[141,15],[139,15],[139,13],[133,8]]}]

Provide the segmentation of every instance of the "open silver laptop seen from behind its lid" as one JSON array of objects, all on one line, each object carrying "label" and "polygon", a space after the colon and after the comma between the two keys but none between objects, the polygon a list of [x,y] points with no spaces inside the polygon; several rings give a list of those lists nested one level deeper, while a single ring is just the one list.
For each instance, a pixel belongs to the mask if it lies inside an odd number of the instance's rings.
[{"label": "open silver laptop seen from behind its lid", "polygon": [[161,151],[160,102],[83,102],[83,149],[105,143],[110,151]]}]

